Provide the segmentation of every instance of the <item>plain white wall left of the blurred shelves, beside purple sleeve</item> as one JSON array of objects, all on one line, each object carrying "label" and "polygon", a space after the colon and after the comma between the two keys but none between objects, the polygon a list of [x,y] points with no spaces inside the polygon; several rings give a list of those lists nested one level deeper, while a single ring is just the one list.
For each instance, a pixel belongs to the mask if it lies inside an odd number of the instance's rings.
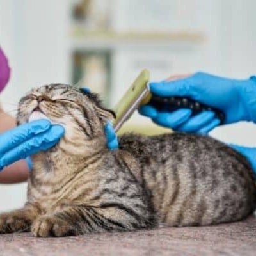
[{"label": "plain white wall left of the blurred shelves, beside purple sleeve", "polygon": [[[0,45],[12,67],[1,101],[47,83],[67,83],[69,1],[0,0]],[[11,108],[12,109],[12,108]]]}]

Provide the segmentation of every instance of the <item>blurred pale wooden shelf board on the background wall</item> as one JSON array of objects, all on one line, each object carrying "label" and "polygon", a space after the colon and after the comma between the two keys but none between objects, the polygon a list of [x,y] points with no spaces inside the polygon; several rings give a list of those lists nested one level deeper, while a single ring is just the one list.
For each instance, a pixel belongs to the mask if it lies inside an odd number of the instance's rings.
[{"label": "blurred pale wooden shelf board on the background wall", "polygon": [[193,47],[204,42],[202,33],[188,32],[138,32],[138,31],[72,31],[72,47],[76,49],[116,49],[118,47]]}]

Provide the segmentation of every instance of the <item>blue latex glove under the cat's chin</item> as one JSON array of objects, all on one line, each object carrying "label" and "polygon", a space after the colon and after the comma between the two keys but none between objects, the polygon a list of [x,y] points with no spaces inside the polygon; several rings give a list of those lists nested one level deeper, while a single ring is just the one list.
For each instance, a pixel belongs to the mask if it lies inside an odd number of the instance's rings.
[{"label": "blue latex glove under the cat's chin", "polygon": [[44,119],[3,132],[0,134],[0,170],[31,154],[51,148],[64,132],[61,125],[52,125]]}]

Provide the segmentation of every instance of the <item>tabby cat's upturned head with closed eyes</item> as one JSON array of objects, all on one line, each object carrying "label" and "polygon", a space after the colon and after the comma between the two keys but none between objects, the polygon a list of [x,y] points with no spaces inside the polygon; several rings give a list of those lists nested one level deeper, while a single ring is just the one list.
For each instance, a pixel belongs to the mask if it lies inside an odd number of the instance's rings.
[{"label": "tabby cat's upturned head with closed eyes", "polygon": [[68,140],[104,136],[104,125],[115,113],[102,107],[95,93],[83,92],[65,84],[50,84],[28,92],[19,102],[17,123],[40,118],[65,127]]}]

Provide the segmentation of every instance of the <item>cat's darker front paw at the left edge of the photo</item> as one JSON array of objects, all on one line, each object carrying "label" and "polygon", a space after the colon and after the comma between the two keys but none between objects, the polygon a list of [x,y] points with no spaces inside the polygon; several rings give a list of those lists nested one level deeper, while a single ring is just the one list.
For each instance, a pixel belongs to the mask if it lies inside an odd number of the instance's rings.
[{"label": "cat's darker front paw at the left edge of the photo", "polygon": [[30,223],[19,214],[0,214],[0,234],[29,231]]}]

